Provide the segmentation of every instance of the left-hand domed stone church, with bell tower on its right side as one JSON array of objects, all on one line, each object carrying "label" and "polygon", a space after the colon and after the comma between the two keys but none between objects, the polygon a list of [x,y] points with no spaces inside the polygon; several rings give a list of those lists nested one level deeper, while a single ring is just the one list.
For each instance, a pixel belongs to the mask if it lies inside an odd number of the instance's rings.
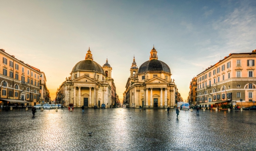
[{"label": "left-hand domed stone church, with bell tower on its right side", "polygon": [[57,90],[57,100],[61,99],[65,106],[73,104],[74,107],[100,107],[104,103],[106,108],[113,107],[118,96],[111,71],[108,60],[103,66],[93,61],[89,48],[85,60],[73,67],[71,76]]}]

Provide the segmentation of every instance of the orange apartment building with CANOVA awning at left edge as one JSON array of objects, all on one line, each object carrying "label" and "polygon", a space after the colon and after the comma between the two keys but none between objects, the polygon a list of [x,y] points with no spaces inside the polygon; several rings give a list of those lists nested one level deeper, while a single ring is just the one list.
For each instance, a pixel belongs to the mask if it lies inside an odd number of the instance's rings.
[{"label": "orange apartment building with CANOVA awning at left edge", "polygon": [[0,49],[0,105],[36,105],[40,102],[40,70]]}]

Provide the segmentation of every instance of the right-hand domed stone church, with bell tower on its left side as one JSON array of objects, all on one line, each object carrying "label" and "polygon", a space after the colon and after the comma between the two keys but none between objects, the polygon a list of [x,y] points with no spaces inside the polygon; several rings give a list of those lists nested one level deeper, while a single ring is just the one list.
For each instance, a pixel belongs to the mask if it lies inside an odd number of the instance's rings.
[{"label": "right-hand domed stone church, with bell tower on its left side", "polygon": [[130,108],[173,108],[176,85],[171,76],[169,66],[158,60],[154,46],[149,60],[139,68],[133,57],[130,77],[125,86],[124,104]]}]

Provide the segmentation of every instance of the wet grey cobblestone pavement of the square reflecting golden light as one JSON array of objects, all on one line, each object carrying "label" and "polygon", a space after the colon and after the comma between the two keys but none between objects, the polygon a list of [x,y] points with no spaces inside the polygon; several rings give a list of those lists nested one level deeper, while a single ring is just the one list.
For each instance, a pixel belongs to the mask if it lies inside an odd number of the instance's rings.
[{"label": "wet grey cobblestone pavement of the square reflecting golden light", "polygon": [[[0,110],[0,150],[255,151],[255,111]],[[90,136],[88,132],[92,132]]]}]

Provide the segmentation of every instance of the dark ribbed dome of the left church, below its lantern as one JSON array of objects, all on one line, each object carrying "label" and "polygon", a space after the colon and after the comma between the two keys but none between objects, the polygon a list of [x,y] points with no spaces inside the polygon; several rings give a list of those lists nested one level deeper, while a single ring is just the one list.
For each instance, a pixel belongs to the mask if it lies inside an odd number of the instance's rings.
[{"label": "dark ribbed dome of the left church, below its lantern", "polygon": [[74,71],[96,71],[105,74],[103,68],[97,62],[92,60],[79,61],[74,66],[72,72]]}]

